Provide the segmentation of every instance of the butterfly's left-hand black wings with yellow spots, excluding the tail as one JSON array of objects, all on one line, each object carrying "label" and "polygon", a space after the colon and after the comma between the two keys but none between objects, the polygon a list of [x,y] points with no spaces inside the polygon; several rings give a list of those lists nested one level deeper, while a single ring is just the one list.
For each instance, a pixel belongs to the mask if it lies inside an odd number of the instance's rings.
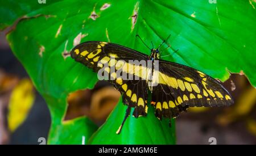
[{"label": "butterfly's left-hand black wings with yellow spots, excluding the tail", "polygon": [[[94,71],[104,70],[110,83],[123,94],[123,103],[129,107],[135,107],[135,117],[144,116],[147,113],[147,84],[146,79],[136,76],[135,73],[145,67],[138,66],[134,71],[127,70],[129,60],[147,60],[147,55],[121,45],[101,41],[88,41],[77,45],[71,51],[72,58],[92,68]],[[104,66],[104,64],[108,66]],[[114,68],[112,68],[114,66]],[[121,73],[118,73],[119,69]],[[113,69],[113,70],[111,70]],[[118,75],[127,75],[126,78]],[[131,80],[127,79],[133,77]],[[137,79],[135,79],[137,77]]]}]

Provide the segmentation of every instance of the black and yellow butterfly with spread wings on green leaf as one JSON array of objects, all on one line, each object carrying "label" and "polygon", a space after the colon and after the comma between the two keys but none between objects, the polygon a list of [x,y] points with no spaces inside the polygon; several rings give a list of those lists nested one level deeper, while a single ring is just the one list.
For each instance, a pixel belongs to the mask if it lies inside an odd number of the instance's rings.
[{"label": "black and yellow butterfly with spread wings on green leaf", "polygon": [[[161,44],[162,45],[162,44]],[[118,44],[103,41],[86,41],[77,45],[71,51],[71,57],[76,61],[98,72],[104,70],[108,81],[119,90],[123,103],[128,106],[125,119],[118,129],[120,132],[131,107],[135,117],[146,116],[148,91],[152,93],[151,104],[155,107],[155,116],[173,118],[188,107],[230,106],[233,99],[229,92],[216,79],[196,69],[160,59],[159,48],[151,49],[150,56]],[[150,85],[148,72],[154,75],[154,68],[132,65],[129,60],[157,60],[158,85]],[[105,66],[106,65],[106,66]],[[114,68],[110,71],[110,68]],[[130,70],[132,69],[132,70]],[[117,76],[117,71],[127,74],[133,79]],[[142,74],[147,70],[147,74]],[[120,74],[119,74],[120,75]],[[154,81],[152,76],[151,81]]]}]

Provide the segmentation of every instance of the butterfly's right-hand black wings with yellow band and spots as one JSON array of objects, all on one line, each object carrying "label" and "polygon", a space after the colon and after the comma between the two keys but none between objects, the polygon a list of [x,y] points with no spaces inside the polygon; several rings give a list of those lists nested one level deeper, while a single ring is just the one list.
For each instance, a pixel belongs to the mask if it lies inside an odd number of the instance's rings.
[{"label": "butterfly's right-hand black wings with yellow band and spots", "polygon": [[185,65],[159,60],[158,85],[152,91],[156,117],[176,117],[188,107],[230,106],[221,82]]}]

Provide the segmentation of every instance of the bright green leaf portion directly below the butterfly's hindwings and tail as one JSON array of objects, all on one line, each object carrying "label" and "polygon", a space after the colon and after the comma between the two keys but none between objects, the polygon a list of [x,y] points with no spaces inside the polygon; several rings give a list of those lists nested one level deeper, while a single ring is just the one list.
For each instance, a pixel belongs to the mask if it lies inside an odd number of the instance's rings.
[{"label": "bright green leaf portion directly below the butterfly's hindwings and tail", "polygon": [[120,99],[117,107],[96,134],[89,140],[89,144],[175,144],[175,124],[172,120],[171,127],[168,127],[169,120],[158,120],[154,115],[154,108],[148,107],[146,117],[128,117],[120,134],[117,132],[122,123],[127,106],[124,106]]}]

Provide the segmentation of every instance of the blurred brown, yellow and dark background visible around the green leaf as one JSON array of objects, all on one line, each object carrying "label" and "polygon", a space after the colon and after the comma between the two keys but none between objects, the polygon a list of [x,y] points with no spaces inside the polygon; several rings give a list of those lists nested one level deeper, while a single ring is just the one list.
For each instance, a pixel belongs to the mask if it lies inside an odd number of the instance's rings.
[{"label": "blurred brown, yellow and dark background visible around the green leaf", "polygon": [[[229,108],[190,108],[176,119],[177,144],[256,144],[256,89],[243,75],[232,74],[224,86],[233,95]],[[109,83],[68,97],[65,120],[89,116],[97,125],[108,117],[119,99]],[[0,144],[39,144],[47,138],[51,119],[47,104],[35,90],[26,70],[0,33]]]}]

